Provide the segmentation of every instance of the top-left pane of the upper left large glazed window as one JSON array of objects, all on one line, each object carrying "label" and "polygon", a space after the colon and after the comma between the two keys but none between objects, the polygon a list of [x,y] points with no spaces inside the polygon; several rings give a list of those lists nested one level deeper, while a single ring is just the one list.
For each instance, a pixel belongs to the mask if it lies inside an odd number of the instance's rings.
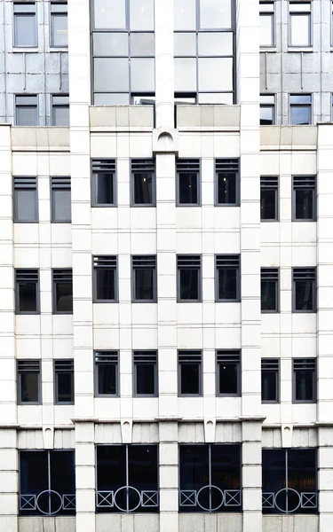
[{"label": "top-left pane of the upper left large glazed window", "polygon": [[125,0],[94,0],[95,27],[125,29]]}]

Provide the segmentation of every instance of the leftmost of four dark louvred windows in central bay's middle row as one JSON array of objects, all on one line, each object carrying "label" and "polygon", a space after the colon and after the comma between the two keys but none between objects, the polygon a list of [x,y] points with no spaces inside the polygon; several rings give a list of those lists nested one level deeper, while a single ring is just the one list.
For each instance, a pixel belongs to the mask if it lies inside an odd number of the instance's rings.
[{"label": "leftmost of four dark louvred windows in central bay's middle row", "polygon": [[93,257],[93,301],[118,301],[117,257],[105,255]]}]

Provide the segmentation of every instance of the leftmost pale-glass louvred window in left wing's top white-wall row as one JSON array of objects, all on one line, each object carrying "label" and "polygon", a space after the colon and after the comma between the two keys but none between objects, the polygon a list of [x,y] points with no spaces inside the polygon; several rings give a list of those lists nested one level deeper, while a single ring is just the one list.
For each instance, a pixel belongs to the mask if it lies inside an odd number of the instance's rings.
[{"label": "leftmost pale-glass louvred window in left wing's top white-wall row", "polygon": [[36,177],[15,177],[14,180],[14,222],[38,222],[38,198]]}]

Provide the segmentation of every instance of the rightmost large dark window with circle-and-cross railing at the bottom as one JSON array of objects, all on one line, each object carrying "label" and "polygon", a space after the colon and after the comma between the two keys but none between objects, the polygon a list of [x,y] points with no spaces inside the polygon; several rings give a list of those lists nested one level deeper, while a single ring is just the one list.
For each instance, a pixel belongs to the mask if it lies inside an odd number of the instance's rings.
[{"label": "rightmost large dark window with circle-and-cross railing at the bottom", "polygon": [[315,449],[263,449],[263,513],[316,513]]}]

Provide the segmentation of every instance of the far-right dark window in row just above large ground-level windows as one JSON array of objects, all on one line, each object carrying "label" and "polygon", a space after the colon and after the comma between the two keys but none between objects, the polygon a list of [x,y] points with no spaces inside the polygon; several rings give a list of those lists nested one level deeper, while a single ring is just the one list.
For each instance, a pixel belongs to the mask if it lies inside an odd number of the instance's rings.
[{"label": "far-right dark window in row just above large ground-level windows", "polygon": [[316,391],[316,359],[294,358],[292,361],[293,403],[315,403]]}]

